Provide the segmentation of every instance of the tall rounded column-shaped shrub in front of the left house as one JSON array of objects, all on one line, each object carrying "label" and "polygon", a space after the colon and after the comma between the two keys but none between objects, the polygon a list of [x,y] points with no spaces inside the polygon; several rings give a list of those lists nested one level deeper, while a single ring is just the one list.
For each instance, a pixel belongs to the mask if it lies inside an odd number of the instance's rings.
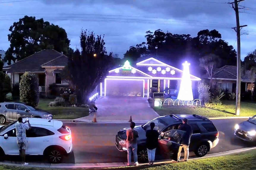
[{"label": "tall rounded column-shaped shrub in front of the left house", "polygon": [[36,107],[39,102],[38,78],[31,72],[26,72],[20,80],[20,101]]}]

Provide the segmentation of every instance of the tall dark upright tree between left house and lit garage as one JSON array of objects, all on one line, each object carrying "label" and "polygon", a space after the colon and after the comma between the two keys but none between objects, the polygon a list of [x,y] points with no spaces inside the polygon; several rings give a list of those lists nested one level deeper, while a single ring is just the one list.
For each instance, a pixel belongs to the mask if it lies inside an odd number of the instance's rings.
[{"label": "tall dark upright tree between left house and lit garage", "polygon": [[69,56],[66,71],[69,80],[75,85],[78,103],[86,103],[92,91],[107,76],[112,67],[112,53],[107,55],[104,36],[82,30],[81,51],[78,49]]}]

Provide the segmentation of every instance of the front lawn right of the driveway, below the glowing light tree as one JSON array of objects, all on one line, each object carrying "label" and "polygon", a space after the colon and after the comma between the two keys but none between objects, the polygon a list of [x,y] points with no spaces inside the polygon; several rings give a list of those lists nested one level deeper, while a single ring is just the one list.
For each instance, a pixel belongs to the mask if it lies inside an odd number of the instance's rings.
[{"label": "front lawn right of the driveway, below the glowing light tree", "polygon": [[[152,104],[151,104],[152,106]],[[256,105],[250,103],[241,103],[240,116],[254,116]],[[160,109],[153,107],[159,115],[168,114],[198,114],[206,117],[228,117],[235,115],[236,101],[222,101],[222,105],[211,106],[211,108],[200,106],[166,106]]]}]

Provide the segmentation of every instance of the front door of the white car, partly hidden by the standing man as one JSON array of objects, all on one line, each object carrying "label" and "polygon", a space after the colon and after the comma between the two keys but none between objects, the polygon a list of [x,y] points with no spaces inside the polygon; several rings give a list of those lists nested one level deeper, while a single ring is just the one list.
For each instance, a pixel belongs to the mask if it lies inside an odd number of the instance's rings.
[{"label": "front door of the white car, partly hidden by the standing man", "polygon": [[[19,155],[19,146],[17,144],[16,129],[12,129],[6,133],[8,135],[7,139],[1,136],[3,141],[3,150],[6,155]],[[27,152],[27,150],[26,150]]]}]

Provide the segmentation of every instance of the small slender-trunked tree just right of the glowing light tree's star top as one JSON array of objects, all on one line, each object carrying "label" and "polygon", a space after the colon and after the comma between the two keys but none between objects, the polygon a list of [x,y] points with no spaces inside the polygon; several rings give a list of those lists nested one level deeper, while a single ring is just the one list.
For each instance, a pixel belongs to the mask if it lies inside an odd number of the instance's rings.
[{"label": "small slender-trunked tree just right of the glowing light tree's star top", "polygon": [[210,87],[212,82],[213,71],[217,68],[219,61],[219,56],[215,54],[209,54],[199,59],[199,66],[204,68],[207,74],[211,77]]}]

